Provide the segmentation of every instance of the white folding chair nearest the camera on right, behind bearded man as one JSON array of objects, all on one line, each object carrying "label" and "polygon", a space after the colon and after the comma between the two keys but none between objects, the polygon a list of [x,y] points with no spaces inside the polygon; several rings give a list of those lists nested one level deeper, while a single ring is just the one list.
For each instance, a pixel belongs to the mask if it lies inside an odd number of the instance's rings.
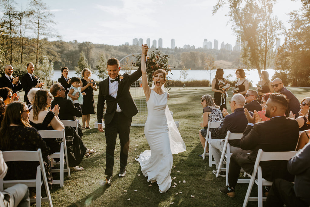
[{"label": "white folding chair nearest the camera on right, behind bearded man", "polygon": [[[297,152],[296,151],[288,151],[288,152],[264,152],[262,149],[258,150],[258,154],[255,160],[254,169],[252,175],[250,176],[250,183],[248,190],[246,191],[246,197],[244,198],[243,206],[245,207],[248,201],[258,201],[258,206],[263,206],[263,200],[266,200],[266,197],[263,198],[263,185],[271,186],[272,182],[265,180],[262,178],[262,168],[259,166],[260,161],[271,161],[271,160],[290,160]],[[255,178],[257,174],[257,179]],[[252,187],[254,182],[257,185],[257,194],[258,197],[250,197],[250,193],[252,191]]]}]

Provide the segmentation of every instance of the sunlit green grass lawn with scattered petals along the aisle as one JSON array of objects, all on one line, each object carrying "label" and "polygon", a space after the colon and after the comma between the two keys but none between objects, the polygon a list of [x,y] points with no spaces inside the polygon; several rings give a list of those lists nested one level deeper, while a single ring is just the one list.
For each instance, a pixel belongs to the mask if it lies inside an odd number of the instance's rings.
[{"label": "sunlit green grass lawn with scattered petals along the aisle", "polygon": [[[310,88],[288,87],[288,89],[299,101],[303,97],[310,97]],[[209,167],[208,157],[206,160],[198,157],[198,154],[203,152],[198,137],[202,122],[200,97],[204,94],[213,97],[211,88],[172,88],[169,94],[168,106],[174,112],[174,119],[179,121],[179,131],[187,148],[185,152],[173,155],[175,167],[171,170],[171,177],[176,177],[172,181],[177,184],[175,188],[171,187],[166,193],[160,194],[157,184],[152,183],[150,186],[151,183],[147,182],[147,178],[141,173],[135,157],[149,149],[143,126],[131,127],[127,174],[124,178],[118,178],[120,143],[117,140],[112,186],[103,187],[101,183],[105,178],[105,137],[104,133],[93,128],[84,130],[82,139],[88,148],[95,148],[96,153],[82,160],[80,166],[84,167],[84,170],[71,173],[71,178],[65,174],[64,187],[53,185],[51,190],[53,205],[170,206],[173,202],[173,205],[179,206],[241,206],[248,184],[237,184],[234,199],[222,195],[219,187],[225,186],[225,178],[216,178],[212,174],[215,165]],[[95,93],[95,105],[97,96],[98,91]],[[227,101],[231,97],[230,93]],[[227,106],[228,112],[231,113],[229,104]],[[95,121],[95,116],[92,115],[91,127]],[[256,189],[254,187],[252,191]],[[195,197],[192,198],[191,195]],[[47,206],[47,203],[43,206]],[[249,202],[249,206],[257,206],[257,203]]]}]

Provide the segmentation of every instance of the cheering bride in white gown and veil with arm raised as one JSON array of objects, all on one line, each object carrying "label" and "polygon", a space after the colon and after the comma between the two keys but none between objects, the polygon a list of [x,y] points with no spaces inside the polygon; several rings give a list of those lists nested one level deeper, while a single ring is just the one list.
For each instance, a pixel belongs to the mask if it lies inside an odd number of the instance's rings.
[{"label": "cheering bride in white gown and veil with arm raised", "polygon": [[146,75],[146,53],[142,48],[142,85],[148,106],[144,134],[151,150],[142,152],[136,160],[140,162],[141,171],[148,177],[148,182],[157,182],[159,191],[163,193],[171,186],[172,152],[177,154],[186,148],[167,106],[169,93],[162,89],[166,82],[166,71],[159,69],[154,72],[154,88],[151,89]]}]

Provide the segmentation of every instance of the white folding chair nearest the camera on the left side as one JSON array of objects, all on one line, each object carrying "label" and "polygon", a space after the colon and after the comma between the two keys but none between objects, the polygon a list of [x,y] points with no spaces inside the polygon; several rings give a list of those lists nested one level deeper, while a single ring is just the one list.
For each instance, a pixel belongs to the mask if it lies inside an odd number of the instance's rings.
[{"label": "white folding chair nearest the camera on the left side", "polygon": [[[3,159],[5,162],[10,161],[39,161],[40,165],[37,167],[36,179],[29,180],[3,180],[0,179],[0,191],[3,191],[3,188],[12,187],[15,184],[22,183],[28,187],[36,187],[36,199],[30,199],[30,202],[36,202],[36,206],[41,206],[41,202],[48,202],[52,207],[52,199],[50,189],[48,188],[47,176],[44,169],[44,163],[42,158],[41,149],[38,151],[4,151],[2,152]],[[42,178],[41,179],[41,173]],[[45,191],[47,197],[41,198],[41,186],[44,183]]]}]

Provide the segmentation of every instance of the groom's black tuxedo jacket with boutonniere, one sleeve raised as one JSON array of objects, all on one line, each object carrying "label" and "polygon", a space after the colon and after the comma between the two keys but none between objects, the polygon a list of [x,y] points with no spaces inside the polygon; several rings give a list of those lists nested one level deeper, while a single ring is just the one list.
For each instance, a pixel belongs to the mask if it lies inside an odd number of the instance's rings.
[{"label": "groom's black tuxedo jacket with boutonniere, one sleeve raised", "polygon": [[138,108],[135,104],[135,101],[131,97],[129,88],[132,83],[134,83],[142,76],[141,65],[139,66],[138,70],[133,72],[131,75],[125,73],[122,76],[124,77],[122,81],[118,80],[118,90],[116,98],[109,95],[109,77],[104,79],[103,81],[100,81],[97,104],[98,123],[102,123],[104,101],[107,102],[107,110],[104,115],[105,124],[109,124],[113,119],[117,104],[126,117],[131,118],[138,113]]}]

